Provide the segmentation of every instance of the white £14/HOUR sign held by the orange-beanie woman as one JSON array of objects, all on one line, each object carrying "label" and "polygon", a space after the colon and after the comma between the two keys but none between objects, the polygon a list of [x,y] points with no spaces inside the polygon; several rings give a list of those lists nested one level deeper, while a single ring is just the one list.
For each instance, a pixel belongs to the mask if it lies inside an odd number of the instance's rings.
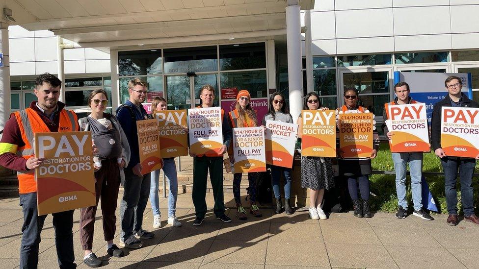
[{"label": "white \u00a314/HOUR sign held by the orange-beanie woman", "polygon": [[264,128],[233,128],[233,151],[236,173],[266,171]]}]

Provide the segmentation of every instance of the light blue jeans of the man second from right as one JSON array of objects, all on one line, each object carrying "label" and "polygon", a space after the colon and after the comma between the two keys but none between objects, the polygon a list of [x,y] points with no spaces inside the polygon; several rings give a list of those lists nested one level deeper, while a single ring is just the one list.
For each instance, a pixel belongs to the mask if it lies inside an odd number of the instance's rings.
[{"label": "light blue jeans of the man second from right", "polygon": [[406,166],[409,163],[409,174],[411,176],[411,191],[414,209],[423,208],[421,177],[423,175],[423,153],[422,152],[392,152],[394,170],[396,171],[396,193],[398,194],[398,205],[407,209],[406,201]]}]

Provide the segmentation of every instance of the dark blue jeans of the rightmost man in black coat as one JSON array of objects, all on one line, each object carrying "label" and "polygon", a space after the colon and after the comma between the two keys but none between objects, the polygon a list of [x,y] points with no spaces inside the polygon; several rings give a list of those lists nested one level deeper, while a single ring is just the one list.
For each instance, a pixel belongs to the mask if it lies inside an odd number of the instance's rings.
[{"label": "dark blue jeans of the rightmost man in black coat", "polygon": [[461,202],[464,215],[474,214],[472,175],[476,167],[475,159],[464,159],[456,157],[441,158],[441,165],[444,169],[444,185],[446,189],[446,204],[451,215],[457,215],[457,168],[461,178]]}]

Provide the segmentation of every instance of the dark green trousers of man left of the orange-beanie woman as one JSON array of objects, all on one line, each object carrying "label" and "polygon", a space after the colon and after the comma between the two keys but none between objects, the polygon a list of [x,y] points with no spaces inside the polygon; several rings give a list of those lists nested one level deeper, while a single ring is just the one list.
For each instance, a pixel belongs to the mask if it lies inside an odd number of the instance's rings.
[{"label": "dark green trousers of man left of the orange-beanie woman", "polygon": [[224,215],[223,195],[223,157],[201,156],[193,158],[193,205],[197,218],[204,218],[208,207],[206,205],[206,182],[210,170],[210,180],[213,187],[214,207],[216,217]]}]

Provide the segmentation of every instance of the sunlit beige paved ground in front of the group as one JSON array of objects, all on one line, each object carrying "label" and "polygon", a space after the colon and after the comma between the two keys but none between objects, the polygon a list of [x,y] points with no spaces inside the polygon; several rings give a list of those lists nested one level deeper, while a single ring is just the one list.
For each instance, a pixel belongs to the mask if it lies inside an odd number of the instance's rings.
[{"label": "sunlit beige paved ground in front of the group", "polygon": [[[208,204],[213,204],[210,194]],[[161,206],[165,205],[161,199]],[[424,221],[414,216],[398,220],[385,213],[358,219],[343,213],[310,220],[307,212],[273,215],[264,208],[263,218],[222,223],[209,215],[194,227],[191,207],[191,196],[180,195],[177,216],[183,227],[173,228],[164,221],[162,228],[154,230],[154,239],[145,240],[141,249],[126,251],[122,258],[106,256],[99,211],[94,251],[104,260],[104,268],[479,268],[479,227],[465,221],[450,227],[446,216]],[[234,217],[234,210],[227,213]],[[75,257],[79,268],[87,268],[81,263],[78,220],[77,210]],[[18,198],[0,200],[0,221],[0,268],[16,268],[22,226]],[[51,221],[49,216],[43,229],[39,268],[57,267]],[[144,228],[153,230],[150,208],[144,221]]]}]

